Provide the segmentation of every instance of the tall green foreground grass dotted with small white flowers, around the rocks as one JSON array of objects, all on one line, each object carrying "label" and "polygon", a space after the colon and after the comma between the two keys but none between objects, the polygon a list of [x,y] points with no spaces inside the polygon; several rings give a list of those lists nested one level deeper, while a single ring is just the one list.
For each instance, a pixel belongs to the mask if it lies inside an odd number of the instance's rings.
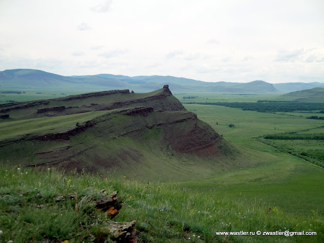
[{"label": "tall green foreground grass dotted with small white flowers, around the rocks", "polygon": [[[95,209],[95,200],[114,190],[119,190],[123,208],[113,221],[137,220],[138,241],[324,242],[324,221],[316,212],[312,217],[289,216],[259,200],[247,206],[177,183],[142,184],[52,168],[1,167],[0,178],[0,242],[97,242],[99,228],[109,219]],[[317,235],[216,235],[240,230]]]}]

